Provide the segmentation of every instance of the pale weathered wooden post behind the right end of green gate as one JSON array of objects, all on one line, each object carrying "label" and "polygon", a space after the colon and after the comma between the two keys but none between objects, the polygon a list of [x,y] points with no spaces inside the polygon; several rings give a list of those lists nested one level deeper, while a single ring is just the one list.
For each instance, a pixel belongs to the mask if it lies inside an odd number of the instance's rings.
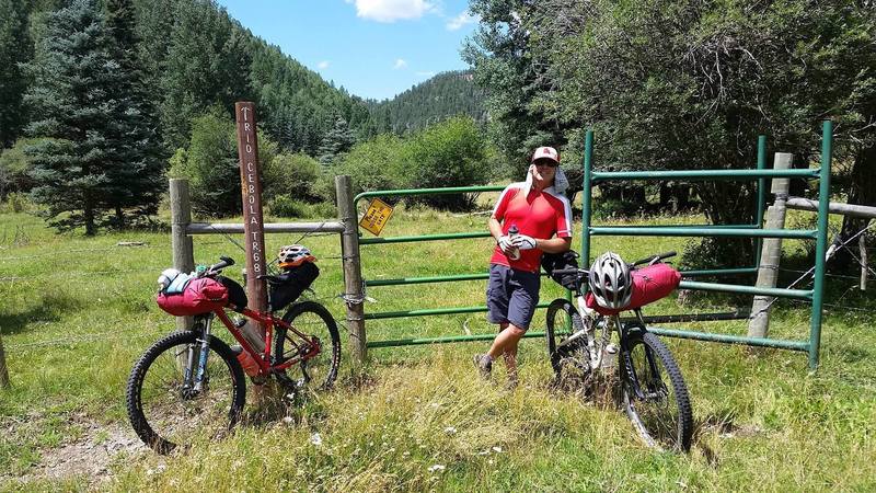
[{"label": "pale weathered wooden post behind the right end of green gate", "polygon": [[[776,170],[787,170],[794,154],[776,152],[773,160],[773,168]],[[772,192],[775,194],[775,202],[766,209],[766,229],[785,228],[785,203],[787,202],[787,191],[791,184],[789,179],[773,179]],[[757,287],[774,288],[779,278],[779,262],[782,259],[782,239],[765,238],[763,240],[763,251],[760,255],[760,268],[758,270]],[[749,337],[765,337],[770,330],[770,307],[774,298],[771,296],[756,296],[751,305],[751,319],[748,322]]]}]

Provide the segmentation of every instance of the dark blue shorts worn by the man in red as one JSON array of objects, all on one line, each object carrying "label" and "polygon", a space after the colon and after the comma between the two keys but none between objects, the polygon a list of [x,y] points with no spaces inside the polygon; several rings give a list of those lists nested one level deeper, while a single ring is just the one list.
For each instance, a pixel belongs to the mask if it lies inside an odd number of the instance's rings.
[{"label": "dark blue shorts worn by the man in red", "polygon": [[539,305],[540,286],[541,277],[535,273],[492,264],[486,285],[487,321],[529,329]]}]

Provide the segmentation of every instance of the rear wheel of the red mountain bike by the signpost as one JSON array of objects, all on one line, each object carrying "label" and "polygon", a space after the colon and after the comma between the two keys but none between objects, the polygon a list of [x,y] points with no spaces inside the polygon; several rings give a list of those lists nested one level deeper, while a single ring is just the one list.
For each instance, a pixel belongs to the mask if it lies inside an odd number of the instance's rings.
[{"label": "rear wheel of the red mountain bike by the signpost", "polygon": [[[341,336],[332,313],[315,301],[303,301],[289,307],[283,316],[283,321],[301,333],[315,335],[321,346],[316,356],[288,368],[287,376],[291,378],[290,374],[300,371],[300,385],[313,390],[331,389],[337,378],[337,368],[341,366]],[[274,358],[277,364],[308,352],[306,342],[293,332],[278,326],[276,334]]]}]

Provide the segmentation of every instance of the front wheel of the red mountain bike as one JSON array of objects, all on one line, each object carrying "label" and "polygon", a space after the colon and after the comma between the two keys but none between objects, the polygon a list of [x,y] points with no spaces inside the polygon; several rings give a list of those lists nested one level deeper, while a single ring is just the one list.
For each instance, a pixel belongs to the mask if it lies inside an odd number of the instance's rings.
[{"label": "front wheel of the red mountain bike", "polygon": [[198,437],[224,435],[246,402],[243,369],[228,345],[216,337],[210,337],[200,389],[195,388],[199,339],[197,332],[168,335],[143,353],[128,378],[130,424],[159,454],[170,454]]}]

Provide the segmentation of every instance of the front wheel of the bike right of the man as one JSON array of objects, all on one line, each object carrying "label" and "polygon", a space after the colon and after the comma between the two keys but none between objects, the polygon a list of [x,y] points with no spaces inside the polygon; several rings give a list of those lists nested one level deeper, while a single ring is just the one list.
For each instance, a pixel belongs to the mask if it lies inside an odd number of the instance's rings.
[{"label": "front wheel of the bike right of the man", "polygon": [[648,446],[688,451],[693,413],[688,387],[669,349],[650,332],[626,334],[623,406]]}]

